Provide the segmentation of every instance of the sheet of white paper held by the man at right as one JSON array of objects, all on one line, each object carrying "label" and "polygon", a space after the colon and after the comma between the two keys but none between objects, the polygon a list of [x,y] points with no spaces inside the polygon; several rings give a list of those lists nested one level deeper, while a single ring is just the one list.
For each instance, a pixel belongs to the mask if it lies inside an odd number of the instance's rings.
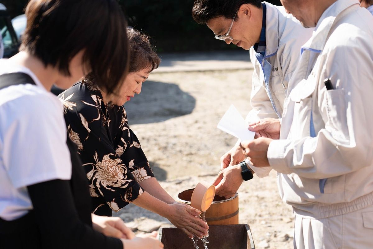
[{"label": "sheet of white paper held by the man at right", "polygon": [[229,107],[219,124],[217,124],[217,128],[241,139],[242,141],[254,139],[255,132],[249,131],[247,129],[248,127],[248,123],[233,105]]}]

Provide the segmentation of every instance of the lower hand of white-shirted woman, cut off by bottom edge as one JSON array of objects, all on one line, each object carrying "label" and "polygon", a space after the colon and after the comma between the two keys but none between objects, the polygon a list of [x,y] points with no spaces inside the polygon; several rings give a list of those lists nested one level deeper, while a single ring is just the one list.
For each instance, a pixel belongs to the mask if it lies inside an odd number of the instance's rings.
[{"label": "lower hand of white-shirted woman, cut off by bottom edge", "polygon": [[134,239],[122,239],[124,249],[160,249],[162,242],[157,239],[157,232],[151,234],[138,234]]}]

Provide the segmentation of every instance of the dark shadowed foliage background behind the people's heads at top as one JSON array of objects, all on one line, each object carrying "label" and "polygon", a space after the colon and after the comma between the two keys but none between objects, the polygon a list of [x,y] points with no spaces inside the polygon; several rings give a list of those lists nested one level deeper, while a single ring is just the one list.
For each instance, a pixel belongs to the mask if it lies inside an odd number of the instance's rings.
[{"label": "dark shadowed foliage background behind the people's heads at top", "polygon": [[[128,25],[152,38],[158,52],[238,49],[214,39],[206,25],[196,24],[191,16],[194,0],[118,0],[128,16]],[[227,0],[229,1],[229,0]],[[23,13],[28,0],[0,0],[12,18]],[[279,0],[270,3],[280,5]]]}]

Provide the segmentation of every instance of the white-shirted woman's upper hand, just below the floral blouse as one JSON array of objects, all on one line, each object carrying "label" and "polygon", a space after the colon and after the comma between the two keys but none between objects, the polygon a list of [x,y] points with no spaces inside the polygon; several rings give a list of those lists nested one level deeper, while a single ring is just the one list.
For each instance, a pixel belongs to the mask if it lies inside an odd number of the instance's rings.
[{"label": "white-shirted woman's upper hand, just below the floral blouse", "polygon": [[119,217],[98,216],[92,214],[93,229],[110,237],[118,239],[133,239],[135,234]]}]

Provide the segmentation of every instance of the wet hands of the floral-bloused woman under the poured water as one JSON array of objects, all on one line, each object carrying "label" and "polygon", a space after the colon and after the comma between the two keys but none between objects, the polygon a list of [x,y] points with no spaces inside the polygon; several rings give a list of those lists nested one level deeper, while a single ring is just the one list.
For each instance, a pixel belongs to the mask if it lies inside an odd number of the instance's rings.
[{"label": "wet hands of the floral-bloused woman under the poured water", "polygon": [[200,211],[179,202],[174,202],[169,207],[170,210],[166,218],[175,227],[186,233],[189,238],[193,238],[193,233],[200,238],[207,235],[209,226],[199,217]]}]

